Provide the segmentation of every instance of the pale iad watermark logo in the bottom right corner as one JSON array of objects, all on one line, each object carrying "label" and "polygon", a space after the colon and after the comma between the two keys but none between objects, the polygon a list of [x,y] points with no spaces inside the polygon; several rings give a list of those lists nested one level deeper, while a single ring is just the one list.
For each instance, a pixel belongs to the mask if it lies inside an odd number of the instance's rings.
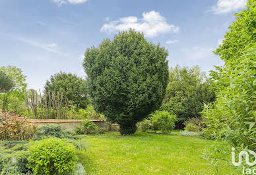
[{"label": "pale iad watermark logo in the bottom right corner", "polygon": [[[249,153],[254,156],[254,161],[250,162],[249,161]],[[243,155],[245,157],[245,162],[248,166],[254,166],[256,164],[256,153],[254,151],[248,150],[248,151],[241,151],[238,155],[238,162],[236,162],[236,153],[235,153],[235,148],[232,147],[232,164],[234,166],[240,166]],[[256,168],[243,168],[243,174],[256,174]]]}]

